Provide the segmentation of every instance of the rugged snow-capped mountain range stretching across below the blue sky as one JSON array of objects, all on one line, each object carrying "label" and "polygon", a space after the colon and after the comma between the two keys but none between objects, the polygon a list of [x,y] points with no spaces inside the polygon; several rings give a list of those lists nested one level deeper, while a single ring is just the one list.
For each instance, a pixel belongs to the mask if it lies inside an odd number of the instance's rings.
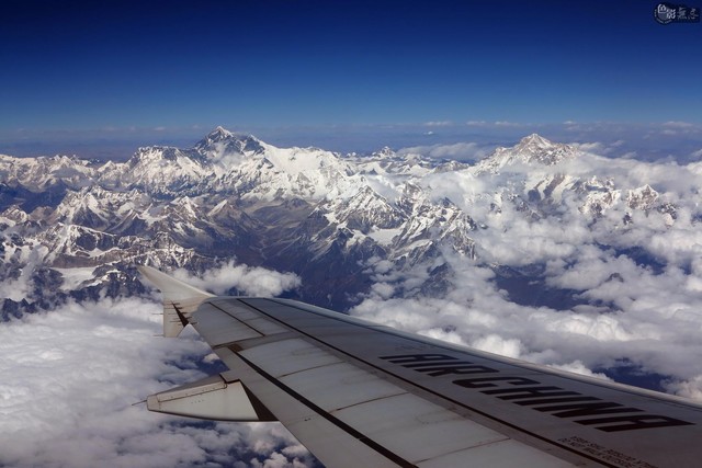
[{"label": "rugged snow-capped mountain range stretching across below the blue sky", "polygon": [[22,286],[3,310],[139,294],[139,262],[204,270],[230,259],[295,272],[297,295],[346,308],[377,262],[440,267],[424,292],[442,289],[446,255],[495,262],[483,246],[509,229],[510,213],[531,224],[566,213],[616,229],[636,213],[675,224],[675,201],[578,171],[589,157],[530,135],[469,167],[389,148],[278,148],[222,127],[193,148],[139,148],[122,163],[0,156],[0,278]]}]

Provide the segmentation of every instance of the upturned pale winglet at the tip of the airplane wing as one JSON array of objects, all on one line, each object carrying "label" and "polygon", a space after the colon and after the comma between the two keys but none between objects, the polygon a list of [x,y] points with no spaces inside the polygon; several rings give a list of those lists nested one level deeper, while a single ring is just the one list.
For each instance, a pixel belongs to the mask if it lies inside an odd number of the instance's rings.
[{"label": "upturned pale winglet at the tip of the airplane wing", "polygon": [[214,297],[150,266],[139,265],[137,269],[163,295],[163,336],[178,336],[197,306]]}]

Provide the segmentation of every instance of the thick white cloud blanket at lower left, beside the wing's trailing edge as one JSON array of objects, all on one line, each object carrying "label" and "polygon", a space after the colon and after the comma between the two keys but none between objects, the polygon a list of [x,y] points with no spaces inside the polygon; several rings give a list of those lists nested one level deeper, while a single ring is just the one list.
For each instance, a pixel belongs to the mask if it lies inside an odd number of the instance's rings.
[{"label": "thick white cloud blanket at lower left, beside the wing's trailing edge", "polygon": [[204,377],[194,333],[155,338],[159,306],[69,304],[0,327],[0,466],[312,466],[279,423],[151,413],[146,396]]}]

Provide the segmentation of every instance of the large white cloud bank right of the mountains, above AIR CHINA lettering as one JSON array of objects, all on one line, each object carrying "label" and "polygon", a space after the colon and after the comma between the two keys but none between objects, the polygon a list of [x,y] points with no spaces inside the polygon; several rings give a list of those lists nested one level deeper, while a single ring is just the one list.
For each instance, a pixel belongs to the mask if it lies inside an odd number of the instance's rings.
[{"label": "large white cloud bank right of the mountains, above AIR CHINA lettering", "polygon": [[[614,140],[601,148],[623,146]],[[597,219],[579,210],[582,198],[575,192],[564,192],[534,217],[511,202],[510,190],[526,198],[530,184],[558,172],[611,180],[621,198]],[[432,297],[417,294],[423,277],[437,279],[426,264],[395,269],[378,261],[373,265],[382,266],[382,274],[374,270],[376,284],[353,315],[584,375],[602,376],[601,369],[626,363],[666,376],[660,385],[668,391],[702,399],[702,171],[697,165],[582,153],[556,167],[514,165],[484,175],[456,171],[420,183],[485,227],[471,233],[478,260],[442,250],[451,273],[446,289]],[[645,184],[658,192],[657,203],[675,206],[675,219],[629,206],[629,191]],[[625,215],[633,222],[625,224]],[[526,300],[513,299],[514,286],[501,286],[492,265],[535,269],[520,286]],[[404,287],[410,279],[414,289]],[[568,306],[528,300],[551,294]]]}]

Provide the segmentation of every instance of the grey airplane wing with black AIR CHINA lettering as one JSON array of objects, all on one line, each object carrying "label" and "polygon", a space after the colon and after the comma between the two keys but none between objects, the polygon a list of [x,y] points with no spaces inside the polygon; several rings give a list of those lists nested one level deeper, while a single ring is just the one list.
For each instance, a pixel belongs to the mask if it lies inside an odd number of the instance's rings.
[{"label": "grey airplane wing with black AIR CHINA lettering", "polygon": [[229,368],[151,411],[281,421],[330,468],[702,466],[689,400],[139,270],[163,292],[165,334],[192,324]]}]

